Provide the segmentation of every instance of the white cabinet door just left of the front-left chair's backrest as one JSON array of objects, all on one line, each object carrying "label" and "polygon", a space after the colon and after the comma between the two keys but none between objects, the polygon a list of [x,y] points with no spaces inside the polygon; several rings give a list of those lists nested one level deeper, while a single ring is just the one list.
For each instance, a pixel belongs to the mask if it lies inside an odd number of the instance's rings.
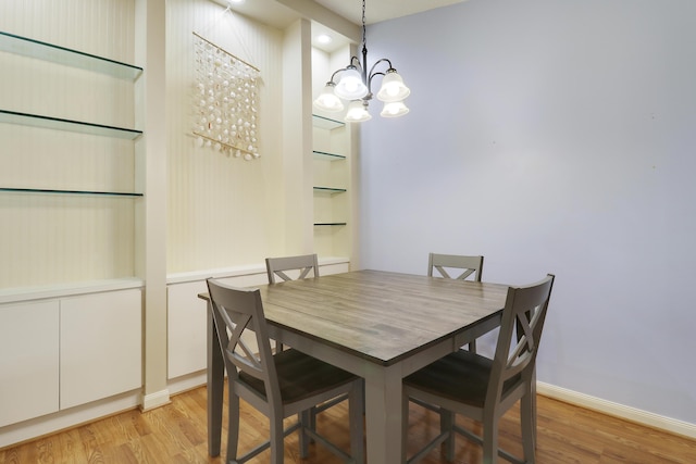
[{"label": "white cabinet door just left of the front-left chair's backrest", "polygon": [[198,293],[208,291],[206,281],[170,285],[167,308],[167,378],[206,368],[208,309]]}]

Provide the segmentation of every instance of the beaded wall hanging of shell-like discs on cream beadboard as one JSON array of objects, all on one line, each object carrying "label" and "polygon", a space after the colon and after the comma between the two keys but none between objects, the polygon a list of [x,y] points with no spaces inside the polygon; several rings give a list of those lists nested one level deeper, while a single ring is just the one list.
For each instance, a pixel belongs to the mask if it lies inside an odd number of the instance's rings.
[{"label": "beaded wall hanging of shell-like discs on cream beadboard", "polygon": [[194,135],[199,147],[227,155],[260,156],[260,71],[194,33]]}]

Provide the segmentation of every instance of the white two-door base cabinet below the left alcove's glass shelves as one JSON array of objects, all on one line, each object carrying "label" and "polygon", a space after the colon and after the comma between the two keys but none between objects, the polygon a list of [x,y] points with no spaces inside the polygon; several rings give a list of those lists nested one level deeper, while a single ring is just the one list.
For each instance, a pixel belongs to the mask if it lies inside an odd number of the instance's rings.
[{"label": "white two-door base cabinet below the left alcove's glass shelves", "polygon": [[139,389],[142,301],[126,289],[0,305],[0,427]]}]

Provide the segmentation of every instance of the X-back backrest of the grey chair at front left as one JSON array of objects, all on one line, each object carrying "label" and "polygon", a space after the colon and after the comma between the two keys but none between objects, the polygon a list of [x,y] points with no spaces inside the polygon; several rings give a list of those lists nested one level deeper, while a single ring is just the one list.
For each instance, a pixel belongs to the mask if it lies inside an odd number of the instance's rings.
[{"label": "X-back backrest of the grey chair at front left", "polygon": [[[244,372],[263,380],[266,400],[281,404],[281,388],[261,292],[259,289],[235,288],[212,278],[208,279],[208,292],[227,377],[232,381],[237,379],[239,372]],[[252,333],[249,337],[256,338],[258,352],[244,341],[243,335],[247,331]]]}]

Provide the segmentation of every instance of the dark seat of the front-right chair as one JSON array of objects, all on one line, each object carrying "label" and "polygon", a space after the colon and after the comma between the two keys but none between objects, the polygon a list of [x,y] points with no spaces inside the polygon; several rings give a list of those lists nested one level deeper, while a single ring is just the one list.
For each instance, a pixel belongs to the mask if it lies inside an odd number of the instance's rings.
[{"label": "dark seat of the front-right chair", "polygon": [[[406,377],[403,384],[458,403],[483,407],[492,369],[493,360],[458,350]],[[520,379],[520,375],[508,379],[502,387],[502,397]]]}]

